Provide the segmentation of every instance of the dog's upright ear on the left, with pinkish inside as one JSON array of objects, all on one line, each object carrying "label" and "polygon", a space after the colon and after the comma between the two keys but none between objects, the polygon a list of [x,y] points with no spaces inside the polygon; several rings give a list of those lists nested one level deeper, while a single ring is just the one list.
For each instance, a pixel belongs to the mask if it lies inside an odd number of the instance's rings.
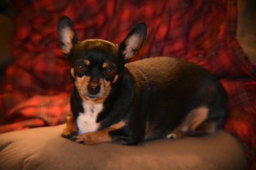
[{"label": "dog's upright ear on the left, with pinkish inside", "polygon": [[58,23],[58,39],[61,44],[61,51],[68,55],[77,43],[77,35],[70,18],[63,16]]}]

